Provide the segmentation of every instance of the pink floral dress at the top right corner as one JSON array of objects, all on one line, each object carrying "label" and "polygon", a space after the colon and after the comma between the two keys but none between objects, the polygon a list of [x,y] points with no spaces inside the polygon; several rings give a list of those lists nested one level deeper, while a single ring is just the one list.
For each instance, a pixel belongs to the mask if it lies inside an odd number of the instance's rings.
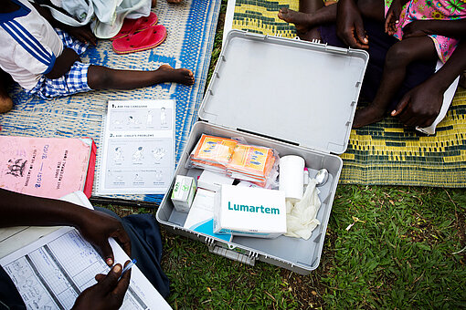
[{"label": "pink floral dress at the top right corner", "polygon": [[[385,0],[386,15],[391,2],[392,0]],[[403,27],[414,20],[454,20],[460,18],[466,18],[466,0],[409,0],[403,6],[399,16],[397,32],[393,36],[401,40],[403,38]],[[460,41],[447,36],[430,35],[430,37],[434,41],[440,60],[443,62],[448,60]]]}]

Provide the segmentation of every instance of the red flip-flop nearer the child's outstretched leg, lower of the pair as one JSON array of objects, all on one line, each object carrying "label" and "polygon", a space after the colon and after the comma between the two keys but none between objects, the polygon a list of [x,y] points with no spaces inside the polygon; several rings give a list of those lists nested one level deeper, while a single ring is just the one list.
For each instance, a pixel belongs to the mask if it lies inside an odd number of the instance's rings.
[{"label": "red flip-flop nearer the child's outstretched leg, lower of the pair", "polygon": [[112,46],[117,54],[129,54],[158,47],[164,42],[165,37],[166,28],[163,25],[154,25],[137,34],[131,33],[113,40]]}]

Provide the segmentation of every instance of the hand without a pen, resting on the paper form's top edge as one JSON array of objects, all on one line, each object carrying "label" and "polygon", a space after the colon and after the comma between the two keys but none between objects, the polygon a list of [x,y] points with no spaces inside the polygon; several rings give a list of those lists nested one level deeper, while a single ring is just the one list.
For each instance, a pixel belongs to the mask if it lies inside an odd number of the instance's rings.
[{"label": "hand without a pen, resting on the paper form's top edge", "polygon": [[131,257],[131,240],[124,230],[122,222],[104,212],[86,212],[76,225],[79,233],[88,242],[93,244],[101,253],[105,262],[112,265],[114,262],[113,252],[109,243],[109,237],[114,238],[128,256]]}]

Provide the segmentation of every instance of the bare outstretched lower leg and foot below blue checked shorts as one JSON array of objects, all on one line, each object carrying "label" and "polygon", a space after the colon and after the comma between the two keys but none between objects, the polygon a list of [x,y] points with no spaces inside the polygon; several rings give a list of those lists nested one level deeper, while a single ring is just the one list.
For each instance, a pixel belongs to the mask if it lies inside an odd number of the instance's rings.
[{"label": "bare outstretched lower leg and foot below blue checked shorts", "polygon": [[174,69],[168,65],[154,71],[116,70],[91,65],[88,71],[88,85],[92,89],[133,89],[165,82],[193,85],[194,81],[191,70]]}]

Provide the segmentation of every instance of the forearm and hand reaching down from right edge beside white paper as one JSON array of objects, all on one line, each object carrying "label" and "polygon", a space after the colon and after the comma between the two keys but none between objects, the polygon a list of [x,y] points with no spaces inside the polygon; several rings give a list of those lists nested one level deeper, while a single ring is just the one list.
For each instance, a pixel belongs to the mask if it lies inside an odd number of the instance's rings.
[{"label": "forearm and hand reaching down from right edge beside white paper", "polygon": [[466,40],[461,40],[449,60],[432,77],[411,89],[391,113],[408,126],[428,127],[440,113],[443,93],[466,69]]}]

